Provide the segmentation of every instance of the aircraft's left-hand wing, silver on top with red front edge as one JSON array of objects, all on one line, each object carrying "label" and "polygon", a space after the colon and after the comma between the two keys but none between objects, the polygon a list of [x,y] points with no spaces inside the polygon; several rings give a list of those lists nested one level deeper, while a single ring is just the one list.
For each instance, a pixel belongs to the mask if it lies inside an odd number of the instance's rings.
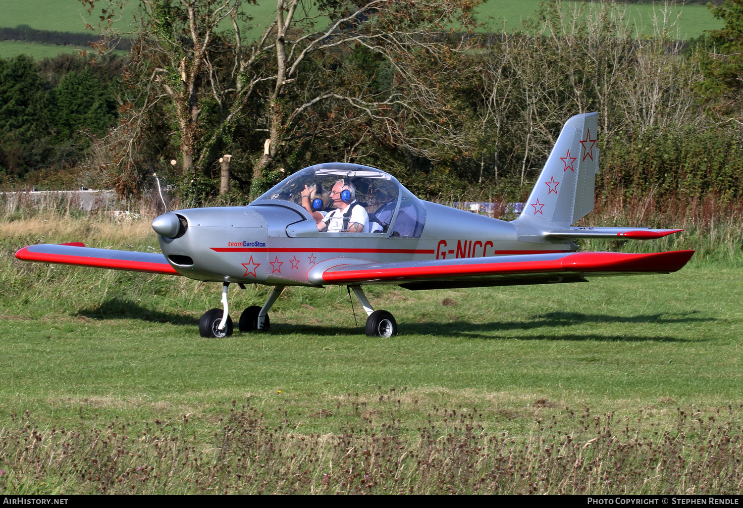
[{"label": "aircraft's left-hand wing, silver on top with red front edge", "polygon": [[[111,253],[110,258],[99,257],[95,255],[71,255],[62,253],[49,253],[49,252],[34,252],[33,250],[43,251],[40,247],[57,247],[57,246],[41,246],[32,245],[30,247],[24,247],[16,253],[16,258],[22,261],[38,261],[41,263],[59,263],[59,264],[72,264],[79,267],[93,267],[93,268],[109,268],[111,270],[127,270],[131,272],[146,272],[146,273],[162,273],[163,275],[180,275],[171,267],[165,260],[165,256],[162,254],[152,253],[129,253],[129,251],[120,250],[106,250],[106,249],[90,249],[88,247],[68,247],[69,249],[75,249],[77,253],[80,250],[85,249],[91,253],[97,253],[97,251],[103,251],[103,253]],[[80,250],[78,250],[80,249]],[[138,261],[137,259],[123,259],[125,254],[131,254],[132,258],[148,258],[158,261]],[[159,262],[159,258],[162,258],[162,262]]]}]

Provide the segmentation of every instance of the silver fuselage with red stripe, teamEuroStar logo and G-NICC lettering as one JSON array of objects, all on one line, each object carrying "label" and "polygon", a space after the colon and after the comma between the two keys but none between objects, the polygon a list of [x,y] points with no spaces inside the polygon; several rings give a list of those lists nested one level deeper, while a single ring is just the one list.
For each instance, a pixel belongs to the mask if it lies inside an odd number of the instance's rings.
[{"label": "silver fuselage with red stripe, teamEuroStar logo and G-NICC lettering", "polygon": [[[340,264],[369,264],[494,255],[565,253],[569,240],[523,235],[516,225],[427,201],[418,238],[385,234],[319,232],[295,203],[185,209],[170,212],[187,222],[178,238],[158,235],[178,273],[201,281],[320,286],[322,273]],[[519,240],[518,236],[529,238]]]}]

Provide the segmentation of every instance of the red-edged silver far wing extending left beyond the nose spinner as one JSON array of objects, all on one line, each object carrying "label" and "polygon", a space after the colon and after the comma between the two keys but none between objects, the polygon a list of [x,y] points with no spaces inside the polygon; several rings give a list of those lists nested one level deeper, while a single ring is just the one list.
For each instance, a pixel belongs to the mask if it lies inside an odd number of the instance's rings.
[{"label": "red-edged silver far wing extending left beyond the nose spinner", "polygon": [[139,253],[129,250],[94,249],[81,243],[39,244],[23,247],[16,258],[39,263],[73,264],[79,267],[110,268],[131,272],[162,273],[180,275],[165,256],[155,253]]}]

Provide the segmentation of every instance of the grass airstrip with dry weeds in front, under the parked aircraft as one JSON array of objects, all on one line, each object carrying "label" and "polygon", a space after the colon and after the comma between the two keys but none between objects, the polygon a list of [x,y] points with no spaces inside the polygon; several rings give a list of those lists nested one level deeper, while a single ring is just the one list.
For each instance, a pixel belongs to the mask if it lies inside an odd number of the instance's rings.
[{"label": "grass airstrip with dry weeds in front, under the parked aircraft", "polygon": [[[371,289],[394,339],[363,334],[345,288],[294,288],[268,333],[212,340],[197,325],[218,284],[13,258],[152,250],[149,220],[0,228],[4,492],[739,492],[735,255],[588,284]],[[266,292],[231,291],[233,318]]]}]

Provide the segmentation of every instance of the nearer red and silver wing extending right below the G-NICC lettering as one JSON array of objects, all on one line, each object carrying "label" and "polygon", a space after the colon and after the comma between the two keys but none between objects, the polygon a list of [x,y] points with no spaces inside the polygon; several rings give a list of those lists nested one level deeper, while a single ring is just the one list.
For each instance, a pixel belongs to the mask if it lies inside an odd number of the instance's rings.
[{"label": "nearer red and silver wing extending right below the G-NICC lettering", "polygon": [[675,272],[693,253],[553,253],[339,264],[317,275],[325,284],[395,284],[411,290],[585,282],[590,276]]}]

